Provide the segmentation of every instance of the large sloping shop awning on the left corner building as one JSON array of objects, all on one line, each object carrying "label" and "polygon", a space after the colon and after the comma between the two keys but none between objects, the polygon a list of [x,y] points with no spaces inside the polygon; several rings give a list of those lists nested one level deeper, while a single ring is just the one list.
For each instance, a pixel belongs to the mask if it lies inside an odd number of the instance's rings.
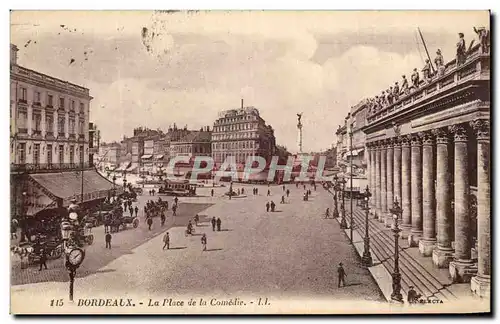
[{"label": "large sloping shop awning on the left corner building", "polygon": [[83,201],[106,198],[113,183],[95,170],[30,174],[30,179],[54,200],[69,206],[71,199],[80,201],[83,182]]}]

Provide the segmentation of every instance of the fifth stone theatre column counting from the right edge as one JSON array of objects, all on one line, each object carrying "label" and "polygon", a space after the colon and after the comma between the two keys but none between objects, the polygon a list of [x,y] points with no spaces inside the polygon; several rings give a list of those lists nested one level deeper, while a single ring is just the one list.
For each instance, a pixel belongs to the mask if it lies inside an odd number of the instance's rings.
[{"label": "fifth stone theatre column counting from the right edge", "polygon": [[422,140],[417,134],[411,138],[411,231],[410,246],[418,246],[422,237]]}]

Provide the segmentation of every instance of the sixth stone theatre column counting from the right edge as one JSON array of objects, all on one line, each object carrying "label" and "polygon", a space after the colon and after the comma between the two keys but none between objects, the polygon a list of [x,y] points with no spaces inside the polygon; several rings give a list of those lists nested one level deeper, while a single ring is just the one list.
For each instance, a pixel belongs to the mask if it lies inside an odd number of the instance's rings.
[{"label": "sixth stone theatre column counting from the right edge", "polygon": [[403,209],[401,237],[407,238],[411,229],[411,149],[409,136],[401,138],[401,206]]}]

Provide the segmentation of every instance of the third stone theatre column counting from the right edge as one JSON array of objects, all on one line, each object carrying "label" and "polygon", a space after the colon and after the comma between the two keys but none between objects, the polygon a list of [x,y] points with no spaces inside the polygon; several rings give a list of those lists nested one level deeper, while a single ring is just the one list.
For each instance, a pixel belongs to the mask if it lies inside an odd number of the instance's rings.
[{"label": "third stone theatre column counting from the right edge", "polygon": [[451,233],[451,173],[449,167],[450,134],[445,128],[433,130],[436,137],[436,218],[437,246],[432,252],[432,262],[438,268],[448,268],[453,259]]}]

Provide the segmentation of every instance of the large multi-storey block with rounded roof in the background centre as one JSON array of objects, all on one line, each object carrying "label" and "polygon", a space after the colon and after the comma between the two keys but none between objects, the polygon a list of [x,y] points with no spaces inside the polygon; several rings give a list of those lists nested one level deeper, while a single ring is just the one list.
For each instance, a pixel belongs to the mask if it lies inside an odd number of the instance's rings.
[{"label": "large multi-storey block with rounded roof in the background centre", "polygon": [[212,133],[212,158],[216,165],[228,156],[244,164],[249,156],[261,156],[269,162],[276,153],[274,130],[254,107],[241,107],[219,113]]}]

